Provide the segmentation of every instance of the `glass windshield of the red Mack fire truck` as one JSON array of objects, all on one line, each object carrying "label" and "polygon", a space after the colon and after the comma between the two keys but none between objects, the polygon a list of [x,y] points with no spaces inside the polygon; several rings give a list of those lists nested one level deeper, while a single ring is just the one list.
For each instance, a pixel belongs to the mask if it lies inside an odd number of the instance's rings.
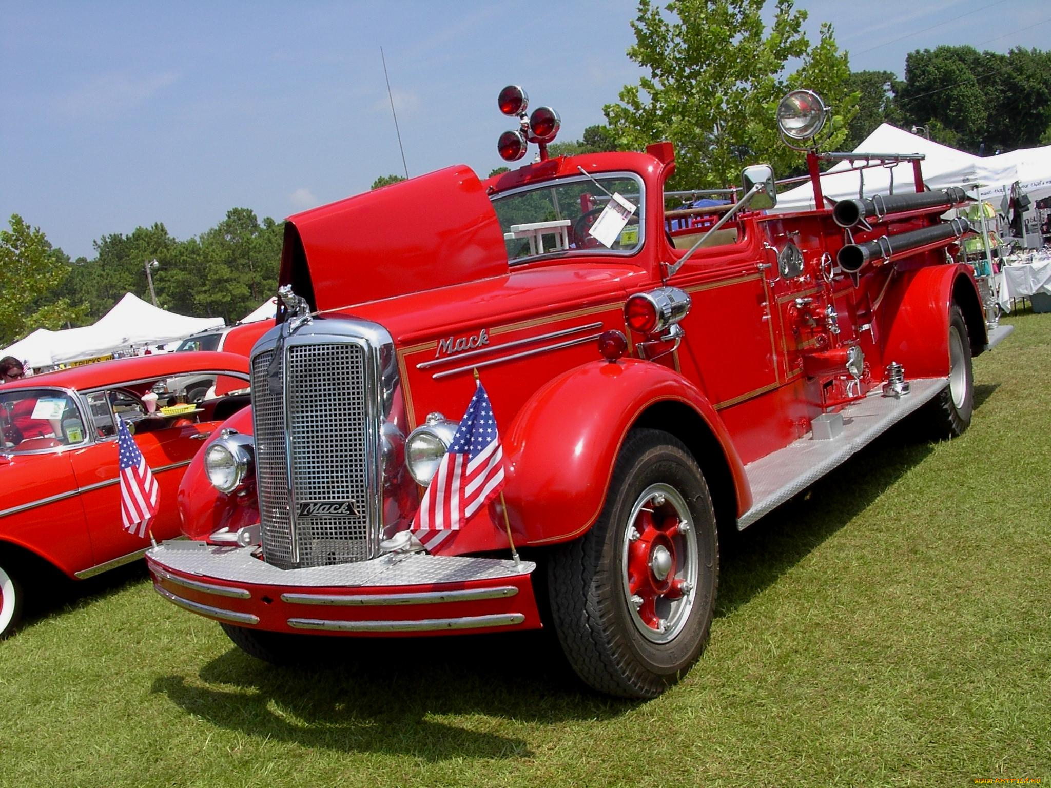
[{"label": "glass windshield of the red Mack fire truck", "polygon": [[[626,223],[615,222],[609,234],[601,228],[592,234],[613,194],[634,206],[634,212]],[[512,264],[566,252],[632,254],[642,243],[641,206],[642,182],[630,173],[562,179],[493,198]]]}]

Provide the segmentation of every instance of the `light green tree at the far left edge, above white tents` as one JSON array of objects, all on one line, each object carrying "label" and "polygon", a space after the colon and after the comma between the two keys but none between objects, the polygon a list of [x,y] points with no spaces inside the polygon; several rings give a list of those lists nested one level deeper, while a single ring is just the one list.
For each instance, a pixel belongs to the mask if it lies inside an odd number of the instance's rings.
[{"label": "light green tree at the far left edge, above white tents", "polygon": [[38,328],[62,328],[78,311],[66,298],[49,297],[69,274],[68,256],[17,213],[8,227],[0,230],[0,345]]}]

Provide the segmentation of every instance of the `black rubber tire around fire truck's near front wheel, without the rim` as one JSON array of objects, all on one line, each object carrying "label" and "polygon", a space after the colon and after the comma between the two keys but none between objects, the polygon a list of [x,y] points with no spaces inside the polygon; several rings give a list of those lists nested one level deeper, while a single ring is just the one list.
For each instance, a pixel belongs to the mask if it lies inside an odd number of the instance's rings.
[{"label": "black rubber tire around fire truck's near front wheel, without the rim", "polygon": [[[682,628],[667,643],[640,635],[624,594],[618,545],[638,497],[666,483],[685,499],[697,535],[697,587]],[[577,675],[595,689],[656,698],[697,661],[707,643],[719,575],[719,541],[707,484],[686,447],[669,433],[633,430],[613,471],[602,513],[548,563],[551,615]]]}]

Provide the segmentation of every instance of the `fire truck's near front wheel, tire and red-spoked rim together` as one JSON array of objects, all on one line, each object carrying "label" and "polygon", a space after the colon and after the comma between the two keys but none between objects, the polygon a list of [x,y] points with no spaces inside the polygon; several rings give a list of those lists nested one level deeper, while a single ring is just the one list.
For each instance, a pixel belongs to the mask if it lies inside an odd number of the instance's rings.
[{"label": "fire truck's near front wheel, tire and red-spoked rim together", "polygon": [[548,563],[551,616],[577,675],[623,698],[663,692],[707,642],[718,574],[700,468],[669,433],[633,430],[595,524]]}]

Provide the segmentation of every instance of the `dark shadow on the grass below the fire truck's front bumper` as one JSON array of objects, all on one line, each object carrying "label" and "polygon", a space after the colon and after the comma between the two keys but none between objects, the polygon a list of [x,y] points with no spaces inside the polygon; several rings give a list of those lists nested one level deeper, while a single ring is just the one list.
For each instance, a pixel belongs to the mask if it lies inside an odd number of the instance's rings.
[{"label": "dark shadow on the grass below the fire truck's front bumper", "polygon": [[396,640],[306,639],[324,662],[280,668],[232,648],[197,677],[152,691],[194,717],[259,739],[347,752],[530,758],[527,743],[435,718],[554,723],[616,717],[634,704],[583,694],[547,633]]}]

